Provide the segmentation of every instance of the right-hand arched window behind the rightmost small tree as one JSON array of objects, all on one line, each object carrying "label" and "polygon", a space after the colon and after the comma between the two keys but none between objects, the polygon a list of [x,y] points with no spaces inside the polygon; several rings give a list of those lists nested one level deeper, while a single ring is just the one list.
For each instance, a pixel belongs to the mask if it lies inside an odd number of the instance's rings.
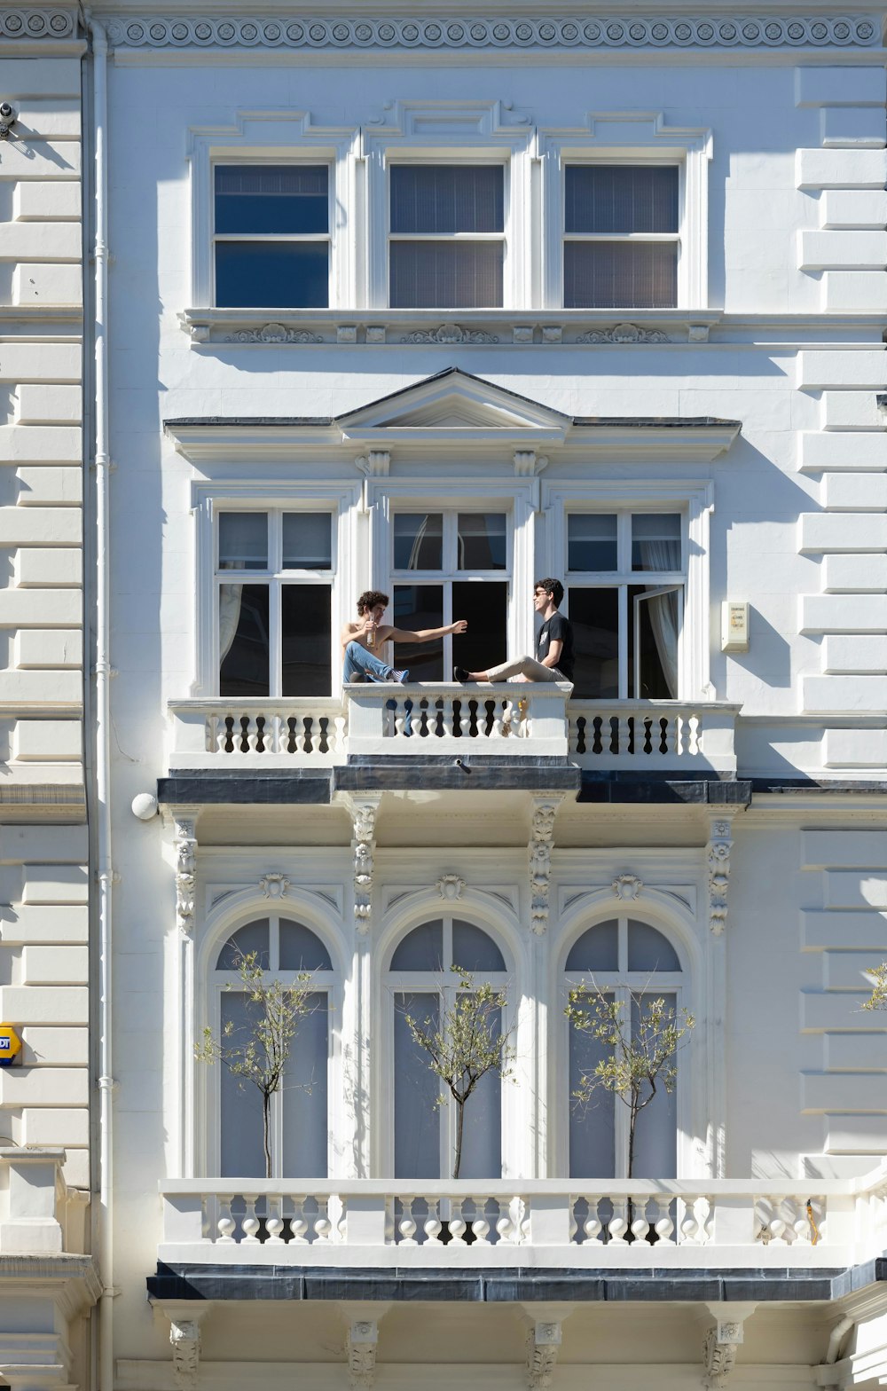
[{"label": "right-hand arched window behind the rightmost small tree", "polygon": [[[566,961],[566,989],[594,985],[621,1004],[628,1036],[637,1031],[645,997],[662,997],[680,1011],[685,986],[681,963],[669,939],[649,922],[609,918],[573,943]],[[574,1100],[584,1075],[606,1056],[605,1046],[573,1024],[569,1028],[570,1177],[624,1178],[628,1168],[628,1106],[598,1088],[585,1104]],[[677,1057],[680,1067],[680,1054]],[[638,1116],[634,1178],[674,1178],[677,1173],[677,1092],[659,1085]]]}]

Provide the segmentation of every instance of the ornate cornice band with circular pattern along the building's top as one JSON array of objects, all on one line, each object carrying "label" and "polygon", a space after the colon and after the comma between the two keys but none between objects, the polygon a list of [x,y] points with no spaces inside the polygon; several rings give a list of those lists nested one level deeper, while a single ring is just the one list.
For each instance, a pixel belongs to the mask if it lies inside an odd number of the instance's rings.
[{"label": "ornate cornice band with circular pattern along the building's top", "polygon": [[[49,11],[13,11],[24,24],[31,17],[50,21],[68,15]],[[8,29],[10,15],[0,24]],[[22,28],[24,28],[22,24]],[[754,17],[731,18],[688,15],[631,18],[456,18],[355,19],[324,18],[131,18],[113,19],[108,39],[117,47],[272,47],[272,49],[667,49],[667,47],[874,47],[880,32],[865,15],[815,18]],[[0,28],[0,33],[4,32]],[[39,29],[67,33],[64,31]]]}]

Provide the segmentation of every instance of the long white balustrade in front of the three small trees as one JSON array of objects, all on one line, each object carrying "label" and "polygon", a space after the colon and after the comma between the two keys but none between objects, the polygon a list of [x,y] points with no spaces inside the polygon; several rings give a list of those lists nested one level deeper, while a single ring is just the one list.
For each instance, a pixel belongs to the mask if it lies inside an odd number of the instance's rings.
[{"label": "long white balustrade in front of the three small trees", "polygon": [[836,1267],[887,1245],[859,1180],[161,1182],[163,1262]]}]

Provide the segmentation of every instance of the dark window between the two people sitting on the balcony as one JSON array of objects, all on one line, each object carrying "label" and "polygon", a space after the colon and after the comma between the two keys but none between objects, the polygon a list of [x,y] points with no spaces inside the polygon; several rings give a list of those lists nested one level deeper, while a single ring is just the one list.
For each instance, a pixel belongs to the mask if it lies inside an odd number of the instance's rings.
[{"label": "dark window between the two people sitting on the balcony", "polygon": [[[505,512],[399,512],[392,526],[395,627],[466,633],[438,643],[398,643],[398,666],[420,682],[452,680],[453,664],[478,670],[507,652],[509,545]],[[481,583],[482,581],[482,583]]]}]

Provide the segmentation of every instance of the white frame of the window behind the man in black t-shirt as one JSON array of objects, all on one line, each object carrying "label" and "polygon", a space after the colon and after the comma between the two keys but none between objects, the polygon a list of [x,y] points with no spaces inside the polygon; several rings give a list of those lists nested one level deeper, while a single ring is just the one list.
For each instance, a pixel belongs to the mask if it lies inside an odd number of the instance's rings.
[{"label": "white frame of the window behind the man in black t-shirt", "polygon": [[[678,640],[678,701],[713,700],[710,683],[710,655],[713,641],[713,619],[710,608],[709,548],[710,516],[715,509],[713,484],[683,479],[599,479],[583,484],[542,484],[542,506],[549,516],[546,573],[560,574],[567,555],[567,516],[571,512],[681,512],[684,513],[684,608],[681,636]],[[539,572],[542,573],[542,572]],[[615,572],[599,572],[595,581],[601,587],[617,583],[644,586],[648,572],[631,570],[617,579]],[[680,579],[680,577],[678,577]],[[563,576],[566,598],[563,612],[570,613],[570,581],[576,577]],[[627,644],[627,629],[620,627],[620,644]],[[626,647],[627,654],[627,647]],[[620,675],[621,675],[620,654]],[[627,662],[626,662],[627,670]]]}]

